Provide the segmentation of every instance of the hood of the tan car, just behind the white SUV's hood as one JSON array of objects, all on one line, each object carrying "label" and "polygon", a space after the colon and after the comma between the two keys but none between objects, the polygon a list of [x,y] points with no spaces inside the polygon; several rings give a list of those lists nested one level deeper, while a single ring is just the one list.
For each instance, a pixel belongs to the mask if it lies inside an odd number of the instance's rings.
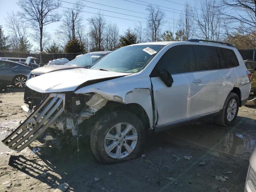
[{"label": "hood of the tan car, just behind the white SUV's hood", "polygon": [[64,70],[64,69],[74,69],[74,68],[85,68],[86,66],[76,66],[76,65],[52,65],[52,66],[43,66],[36,68],[31,71],[31,73],[37,74],[45,74],[57,70]]}]

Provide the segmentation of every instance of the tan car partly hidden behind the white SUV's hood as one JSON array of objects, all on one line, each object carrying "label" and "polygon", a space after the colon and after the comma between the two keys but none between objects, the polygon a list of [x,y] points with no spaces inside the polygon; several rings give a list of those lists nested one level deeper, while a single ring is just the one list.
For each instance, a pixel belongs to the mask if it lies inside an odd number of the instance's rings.
[{"label": "tan car partly hidden behind the white SUV's hood", "polygon": [[79,56],[70,62],[67,62],[64,65],[50,65],[50,66],[43,66],[40,68],[36,68],[31,71],[28,76],[28,79],[49,73],[58,70],[66,70],[66,69],[73,69],[73,68],[88,68],[96,61],[100,60],[103,56],[110,53],[111,51],[97,51],[97,52],[90,52],[86,53],[82,56]]}]

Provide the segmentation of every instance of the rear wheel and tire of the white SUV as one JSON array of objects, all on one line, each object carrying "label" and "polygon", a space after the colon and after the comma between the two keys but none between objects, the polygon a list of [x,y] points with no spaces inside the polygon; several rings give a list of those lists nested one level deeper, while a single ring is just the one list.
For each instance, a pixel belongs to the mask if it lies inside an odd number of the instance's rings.
[{"label": "rear wheel and tire of the white SUV", "polygon": [[[236,109],[232,110],[230,118],[228,118],[228,111],[230,110],[229,104],[232,104],[231,101],[233,102],[235,100],[236,102]],[[235,103],[234,103],[235,104]],[[238,109],[239,109],[239,98],[238,95],[234,92],[230,92],[226,98],[226,101],[224,103],[222,113],[219,116],[216,116],[214,118],[216,124],[220,126],[231,126],[234,121],[236,120],[237,114],[238,114]]]}]

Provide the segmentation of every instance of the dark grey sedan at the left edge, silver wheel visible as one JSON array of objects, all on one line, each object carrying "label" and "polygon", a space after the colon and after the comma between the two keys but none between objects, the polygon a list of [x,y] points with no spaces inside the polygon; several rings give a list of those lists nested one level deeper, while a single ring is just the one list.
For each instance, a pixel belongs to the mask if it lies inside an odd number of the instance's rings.
[{"label": "dark grey sedan at the left edge, silver wheel visible", "polygon": [[16,88],[25,87],[31,67],[8,60],[0,60],[0,85],[12,84]]}]

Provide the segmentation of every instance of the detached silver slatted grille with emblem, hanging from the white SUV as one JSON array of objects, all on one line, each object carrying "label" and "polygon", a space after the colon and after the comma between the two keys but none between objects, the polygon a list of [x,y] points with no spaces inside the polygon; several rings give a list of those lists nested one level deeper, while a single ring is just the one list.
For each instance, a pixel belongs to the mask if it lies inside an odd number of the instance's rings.
[{"label": "detached silver slatted grille with emblem, hanging from the white SUV", "polygon": [[64,111],[65,94],[50,94],[28,118],[2,142],[10,149],[21,151],[36,140]]}]

